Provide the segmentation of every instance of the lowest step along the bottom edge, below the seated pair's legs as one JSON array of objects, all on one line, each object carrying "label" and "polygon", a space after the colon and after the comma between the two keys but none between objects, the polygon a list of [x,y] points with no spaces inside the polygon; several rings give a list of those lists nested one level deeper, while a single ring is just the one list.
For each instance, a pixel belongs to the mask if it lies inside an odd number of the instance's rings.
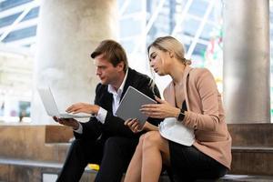
[{"label": "lowest step along the bottom edge, below the seated pair's legs", "polygon": [[[62,164],[18,160],[11,158],[0,158],[0,181],[15,182],[15,181],[55,181],[57,174],[60,172]],[[94,181],[96,171],[86,167],[86,171],[80,182]],[[273,176],[248,176],[248,175],[226,175],[217,180],[199,179],[197,182],[273,182]],[[159,182],[170,182],[167,176],[160,177]]]}]

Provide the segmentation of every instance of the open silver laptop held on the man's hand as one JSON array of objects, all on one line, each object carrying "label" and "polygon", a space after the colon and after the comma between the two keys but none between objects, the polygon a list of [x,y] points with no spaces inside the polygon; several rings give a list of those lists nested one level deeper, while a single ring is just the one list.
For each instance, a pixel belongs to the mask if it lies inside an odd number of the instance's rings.
[{"label": "open silver laptop held on the man's hand", "polygon": [[83,118],[92,116],[90,114],[85,113],[78,114],[59,113],[50,87],[38,88],[37,90],[45,106],[45,111],[48,116],[57,116],[60,118]]}]

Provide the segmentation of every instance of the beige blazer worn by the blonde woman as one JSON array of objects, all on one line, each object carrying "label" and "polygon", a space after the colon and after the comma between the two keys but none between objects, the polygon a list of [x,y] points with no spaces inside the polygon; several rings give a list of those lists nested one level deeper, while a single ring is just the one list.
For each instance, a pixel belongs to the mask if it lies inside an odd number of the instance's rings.
[{"label": "beige blazer worn by the blonde woman", "polygon": [[[186,66],[183,83],[187,103],[183,123],[195,129],[196,141],[193,145],[230,168],[231,136],[227,131],[222,99],[214,77],[206,68]],[[172,106],[176,106],[173,82],[164,90],[164,97]]]}]

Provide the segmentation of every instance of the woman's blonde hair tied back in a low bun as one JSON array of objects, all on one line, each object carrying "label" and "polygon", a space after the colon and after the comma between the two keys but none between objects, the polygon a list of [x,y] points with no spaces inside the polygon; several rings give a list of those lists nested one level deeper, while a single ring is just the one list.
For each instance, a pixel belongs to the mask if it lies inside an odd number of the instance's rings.
[{"label": "woman's blonde hair tied back in a low bun", "polygon": [[191,61],[185,58],[184,45],[182,45],[176,38],[172,36],[158,37],[152,44],[148,45],[148,53],[152,46],[164,52],[174,53],[176,58],[185,65],[191,64]]}]

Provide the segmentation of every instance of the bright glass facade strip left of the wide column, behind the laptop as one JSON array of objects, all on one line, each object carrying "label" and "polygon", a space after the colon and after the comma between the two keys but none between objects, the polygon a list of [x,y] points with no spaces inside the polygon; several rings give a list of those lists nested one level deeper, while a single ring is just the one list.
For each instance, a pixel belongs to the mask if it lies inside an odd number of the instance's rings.
[{"label": "bright glass facade strip left of the wide column, behind the laptop", "polygon": [[0,1],[0,120],[29,121],[39,4]]}]

